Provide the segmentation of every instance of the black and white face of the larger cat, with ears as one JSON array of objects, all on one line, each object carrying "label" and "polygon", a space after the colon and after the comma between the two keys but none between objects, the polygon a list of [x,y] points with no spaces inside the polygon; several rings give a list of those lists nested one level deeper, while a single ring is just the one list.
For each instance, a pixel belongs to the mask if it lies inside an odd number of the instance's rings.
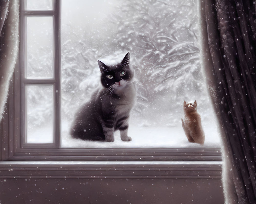
[{"label": "black and white face of the larger cat, with ears", "polygon": [[113,86],[121,88],[132,80],[133,71],[130,69],[130,54],[127,53],[121,63],[117,65],[107,66],[103,62],[98,61],[101,71],[101,83],[105,88]]}]

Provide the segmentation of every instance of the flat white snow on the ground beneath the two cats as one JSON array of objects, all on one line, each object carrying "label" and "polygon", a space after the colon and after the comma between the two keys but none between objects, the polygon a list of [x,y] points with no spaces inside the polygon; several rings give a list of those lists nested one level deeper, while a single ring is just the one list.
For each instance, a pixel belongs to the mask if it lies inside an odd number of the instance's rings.
[{"label": "flat white snow on the ground beneath the two cats", "polygon": [[61,148],[220,148],[220,136],[216,127],[205,126],[205,144],[190,143],[182,127],[139,127],[130,124],[128,135],[132,141],[124,142],[119,131],[114,142],[83,141],[72,138],[62,127]]}]

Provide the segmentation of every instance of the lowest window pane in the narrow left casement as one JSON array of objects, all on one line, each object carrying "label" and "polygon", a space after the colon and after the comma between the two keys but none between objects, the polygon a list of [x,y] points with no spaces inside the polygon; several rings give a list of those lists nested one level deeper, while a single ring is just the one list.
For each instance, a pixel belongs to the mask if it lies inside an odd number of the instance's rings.
[{"label": "lowest window pane in the narrow left casement", "polygon": [[27,143],[53,143],[53,86],[27,85]]}]

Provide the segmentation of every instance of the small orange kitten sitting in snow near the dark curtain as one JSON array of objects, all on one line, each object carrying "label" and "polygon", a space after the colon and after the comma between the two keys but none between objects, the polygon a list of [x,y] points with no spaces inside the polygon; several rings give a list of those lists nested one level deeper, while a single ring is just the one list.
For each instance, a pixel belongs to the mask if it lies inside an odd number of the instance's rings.
[{"label": "small orange kitten sitting in snow near the dark curtain", "polygon": [[185,119],[181,119],[182,127],[188,138],[189,142],[195,142],[199,144],[204,144],[205,134],[201,125],[201,117],[197,113],[197,104],[196,101],[194,104],[186,103],[184,100],[183,109],[185,114]]}]

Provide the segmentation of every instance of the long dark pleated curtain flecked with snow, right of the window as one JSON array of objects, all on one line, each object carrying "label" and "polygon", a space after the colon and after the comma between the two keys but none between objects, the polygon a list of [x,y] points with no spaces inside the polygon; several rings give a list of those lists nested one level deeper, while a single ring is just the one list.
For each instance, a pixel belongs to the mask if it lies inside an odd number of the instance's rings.
[{"label": "long dark pleated curtain flecked with snow, right of the window", "polygon": [[221,127],[226,203],[256,203],[255,8],[255,1],[201,1],[202,61]]}]

